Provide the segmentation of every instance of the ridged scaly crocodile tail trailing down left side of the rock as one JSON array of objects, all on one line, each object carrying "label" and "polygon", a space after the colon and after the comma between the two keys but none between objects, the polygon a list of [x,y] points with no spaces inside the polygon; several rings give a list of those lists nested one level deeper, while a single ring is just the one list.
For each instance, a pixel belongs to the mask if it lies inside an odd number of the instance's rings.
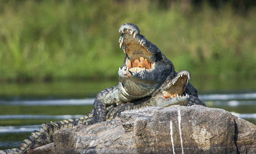
[{"label": "ridged scaly crocodile tail trailing down left side of the rock", "polygon": [[55,131],[63,128],[76,128],[78,124],[90,125],[93,122],[93,111],[91,110],[86,116],[62,120],[58,122],[44,123],[39,126],[39,131],[33,131],[27,139],[23,140],[18,148],[0,150],[0,154],[25,154],[29,150],[39,146],[47,145],[53,142],[53,134]]}]

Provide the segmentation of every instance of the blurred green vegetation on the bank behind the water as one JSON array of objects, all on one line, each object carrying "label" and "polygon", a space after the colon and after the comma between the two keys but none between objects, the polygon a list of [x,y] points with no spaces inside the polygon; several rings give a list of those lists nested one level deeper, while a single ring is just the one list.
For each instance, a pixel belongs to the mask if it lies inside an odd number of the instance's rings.
[{"label": "blurred green vegetation on the bank behind the water", "polygon": [[123,64],[118,28],[138,25],[176,70],[192,78],[256,75],[256,9],[198,9],[152,1],[0,0],[0,81],[114,79]]}]

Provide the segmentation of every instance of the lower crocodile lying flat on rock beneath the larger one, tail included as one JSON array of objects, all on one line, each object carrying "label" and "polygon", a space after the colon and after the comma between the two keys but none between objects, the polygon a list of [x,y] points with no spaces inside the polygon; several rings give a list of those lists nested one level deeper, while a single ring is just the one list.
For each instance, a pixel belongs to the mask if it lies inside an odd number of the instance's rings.
[{"label": "lower crocodile lying flat on rock beneath the larger one, tail included", "polygon": [[[172,80],[166,80],[152,96],[137,99],[124,104],[113,104],[107,108],[106,120],[112,120],[120,117],[121,112],[132,109],[139,109],[148,106],[167,107],[170,105],[204,105],[200,99],[195,96],[189,96],[185,89],[188,86],[190,73],[188,71],[180,71]],[[31,149],[46,145],[53,142],[53,133],[63,128],[76,128],[79,124],[93,124],[94,109],[86,116],[62,120],[58,122],[50,122],[39,126],[39,131],[33,131],[25,143],[21,143],[18,148],[0,150],[0,154],[23,154],[28,153]]]}]

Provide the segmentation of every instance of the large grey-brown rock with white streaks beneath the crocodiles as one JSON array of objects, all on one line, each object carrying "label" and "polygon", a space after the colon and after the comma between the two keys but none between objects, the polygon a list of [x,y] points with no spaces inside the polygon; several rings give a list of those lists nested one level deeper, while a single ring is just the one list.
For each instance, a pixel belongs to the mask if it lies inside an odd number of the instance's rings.
[{"label": "large grey-brown rock with white streaks beneath the crocodiles", "polygon": [[34,153],[256,153],[256,126],[223,109],[145,107],[54,133]]}]

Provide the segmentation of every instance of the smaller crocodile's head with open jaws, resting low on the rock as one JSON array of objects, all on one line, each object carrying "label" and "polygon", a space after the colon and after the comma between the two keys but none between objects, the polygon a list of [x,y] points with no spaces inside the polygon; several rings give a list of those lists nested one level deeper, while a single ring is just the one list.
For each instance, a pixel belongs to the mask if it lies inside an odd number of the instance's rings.
[{"label": "smaller crocodile's head with open jaws, resting low on the rock", "polygon": [[158,107],[187,105],[189,95],[185,93],[190,73],[182,70],[172,80],[166,80],[151,97],[151,104]]}]

